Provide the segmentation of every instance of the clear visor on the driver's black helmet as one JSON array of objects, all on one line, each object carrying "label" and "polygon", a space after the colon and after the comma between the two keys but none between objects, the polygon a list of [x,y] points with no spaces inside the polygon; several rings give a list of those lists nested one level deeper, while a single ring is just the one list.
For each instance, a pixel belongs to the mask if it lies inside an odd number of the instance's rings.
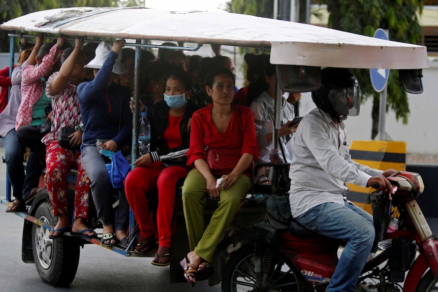
[{"label": "clear visor on the driver's black helmet", "polygon": [[357,116],[360,109],[360,86],[333,88],[329,92],[329,101],[339,116]]}]

